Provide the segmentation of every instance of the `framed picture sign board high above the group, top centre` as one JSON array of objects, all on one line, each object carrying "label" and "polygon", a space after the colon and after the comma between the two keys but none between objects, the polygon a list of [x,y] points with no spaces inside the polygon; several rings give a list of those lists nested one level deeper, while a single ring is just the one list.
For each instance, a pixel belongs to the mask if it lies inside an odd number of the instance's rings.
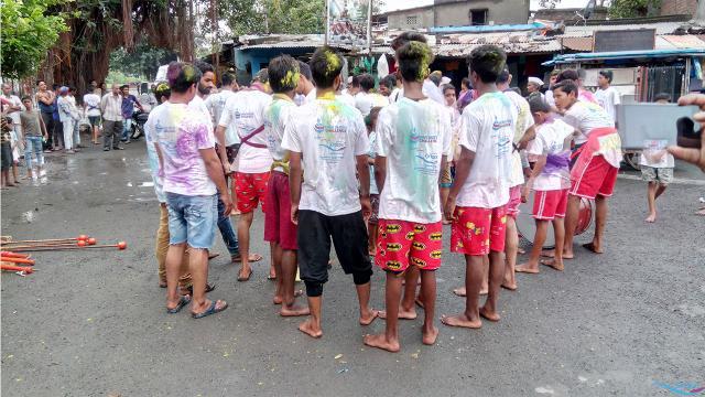
[{"label": "framed picture sign board high above the group, top centre", "polygon": [[329,45],[354,50],[370,46],[370,0],[327,0],[326,37]]}]

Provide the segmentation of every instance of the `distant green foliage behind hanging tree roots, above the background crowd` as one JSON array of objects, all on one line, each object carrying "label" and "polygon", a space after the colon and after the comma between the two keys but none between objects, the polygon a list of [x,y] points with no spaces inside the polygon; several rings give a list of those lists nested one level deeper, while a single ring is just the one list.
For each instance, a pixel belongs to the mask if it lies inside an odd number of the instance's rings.
[{"label": "distant green foliage behind hanging tree roots, above the background crowd", "polygon": [[132,52],[120,47],[110,54],[110,72],[120,72],[126,76],[135,76],[152,81],[159,66],[176,61],[173,51],[159,49],[145,42],[138,43]]}]

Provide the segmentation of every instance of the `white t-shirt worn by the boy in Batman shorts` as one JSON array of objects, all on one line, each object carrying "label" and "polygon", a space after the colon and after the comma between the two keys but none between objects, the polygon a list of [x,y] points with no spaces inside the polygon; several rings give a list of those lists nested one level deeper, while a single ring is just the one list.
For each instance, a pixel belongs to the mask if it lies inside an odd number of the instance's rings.
[{"label": "white t-shirt worn by the boy in Batman shorts", "polygon": [[433,99],[401,98],[377,119],[377,155],[387,158],[379,217],[441,221],[441,161],[451,151],[451,114]]}]

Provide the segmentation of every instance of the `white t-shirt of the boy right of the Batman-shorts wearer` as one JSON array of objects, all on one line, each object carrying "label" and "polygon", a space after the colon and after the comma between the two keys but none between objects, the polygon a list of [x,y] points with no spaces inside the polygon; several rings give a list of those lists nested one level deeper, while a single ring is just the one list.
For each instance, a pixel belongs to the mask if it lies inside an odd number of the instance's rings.
[{"label": "white t-shirt of the boy right of the Batman-shorts wearer", "polygon": [[509,202],[517,108],[502,93],[484,94],[463,111],[459,144],[475,152],[458,206],[496,208]]}]

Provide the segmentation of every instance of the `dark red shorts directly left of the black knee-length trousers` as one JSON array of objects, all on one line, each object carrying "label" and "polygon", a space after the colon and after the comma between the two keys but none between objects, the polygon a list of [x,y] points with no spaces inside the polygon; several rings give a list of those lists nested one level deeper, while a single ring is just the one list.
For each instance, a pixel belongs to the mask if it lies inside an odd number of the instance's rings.
[{"label": "dark red shorts directly left of the black knee-length trousers", "polygon": [[291,222],[291,193],[289,176],[273,171],[267,187],[264,213],[264,240],[279,243],[282,249],[297,249],[296,225]]}]

